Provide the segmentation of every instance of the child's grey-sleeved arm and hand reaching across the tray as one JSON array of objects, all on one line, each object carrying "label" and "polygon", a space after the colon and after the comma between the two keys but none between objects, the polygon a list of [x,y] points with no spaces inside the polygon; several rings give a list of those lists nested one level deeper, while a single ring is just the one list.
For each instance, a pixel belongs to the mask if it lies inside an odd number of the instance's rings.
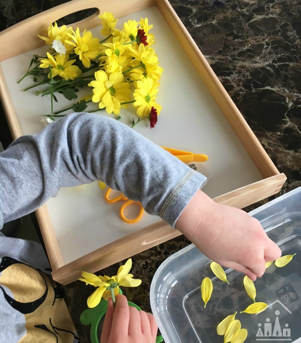
[{"label": "child's grey-sleeved arm and hand reaching across the tray", "polygon": [[208,257],[252,279],[262,275],[264,260],[280,256],[256,219],[215,204],[199,190],[206,181],[202,174],[116,120],[87,113],[20,137],[0,154],[0,228],[40,207],[60,187],[94,180],[140,201],[170,225],[177,222]]}]

